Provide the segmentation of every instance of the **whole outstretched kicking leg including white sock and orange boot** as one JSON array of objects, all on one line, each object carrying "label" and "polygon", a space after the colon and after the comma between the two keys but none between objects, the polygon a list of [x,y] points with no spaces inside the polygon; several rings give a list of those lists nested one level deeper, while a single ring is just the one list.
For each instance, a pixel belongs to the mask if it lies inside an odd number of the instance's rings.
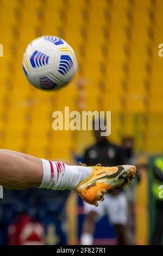
[{"label": "whole outstretched kicking leg including white sock and orange boot", "polygon": [[129,165],[68,166],[15,151],[0,150],[0,185],[12,189],[42,187],[76,190],[83,200],[96,206],[108,190],[129,185],[135,173],[136,168]]}]

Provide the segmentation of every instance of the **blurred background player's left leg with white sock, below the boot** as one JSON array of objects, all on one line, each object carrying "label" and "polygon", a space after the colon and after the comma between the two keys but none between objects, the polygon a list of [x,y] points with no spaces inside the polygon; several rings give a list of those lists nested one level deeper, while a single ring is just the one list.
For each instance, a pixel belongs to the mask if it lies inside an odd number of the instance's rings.
[{"label": "blurred background player's left leg with white sock, below the boot", "polygon": [[85,216],[80,243],[81,245],[93,245],[96,222],[104,216],[105,204],[99,202],[99,206],[95,207],[84,202],[83,206]]}]

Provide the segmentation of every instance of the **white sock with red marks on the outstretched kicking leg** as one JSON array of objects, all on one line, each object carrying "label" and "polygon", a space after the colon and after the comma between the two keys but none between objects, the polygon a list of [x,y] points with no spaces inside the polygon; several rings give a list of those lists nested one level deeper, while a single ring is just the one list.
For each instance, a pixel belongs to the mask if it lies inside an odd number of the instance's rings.
[{"label": "white sock with red marks on the outstretched kicking leg", "polygon": [[80,181],[92,172],[91,167],[68,166],[61,162],[42,160],[43,180],[40,188],[75,190]]}]

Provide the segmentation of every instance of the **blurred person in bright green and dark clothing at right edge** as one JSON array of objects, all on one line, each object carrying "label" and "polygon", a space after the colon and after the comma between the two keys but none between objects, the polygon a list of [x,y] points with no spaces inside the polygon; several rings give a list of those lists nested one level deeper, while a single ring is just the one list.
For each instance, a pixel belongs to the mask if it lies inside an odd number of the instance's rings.
[{"label": "blurred person in bright green and dark clothing at right edge", "polygon": [[152,245],[161,245],[163,235],[163,197],[160,186],[163,185],[163,157],[156,157],[153,162],[152,191],[155,198],[155,223],[152,235]]}]

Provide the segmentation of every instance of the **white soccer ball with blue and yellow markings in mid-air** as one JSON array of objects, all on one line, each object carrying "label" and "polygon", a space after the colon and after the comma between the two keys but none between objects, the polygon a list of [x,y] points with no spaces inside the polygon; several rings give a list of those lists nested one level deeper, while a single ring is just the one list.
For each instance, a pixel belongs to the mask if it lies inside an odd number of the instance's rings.
[{"label": "white soccer ball with blue and yellow markings in mid-air", "polygon": [[53,35],[30,42],[24,52],[23,71],[28,81],[42,90],[55,90],[68,84],[78,69],[70,45]]}]

